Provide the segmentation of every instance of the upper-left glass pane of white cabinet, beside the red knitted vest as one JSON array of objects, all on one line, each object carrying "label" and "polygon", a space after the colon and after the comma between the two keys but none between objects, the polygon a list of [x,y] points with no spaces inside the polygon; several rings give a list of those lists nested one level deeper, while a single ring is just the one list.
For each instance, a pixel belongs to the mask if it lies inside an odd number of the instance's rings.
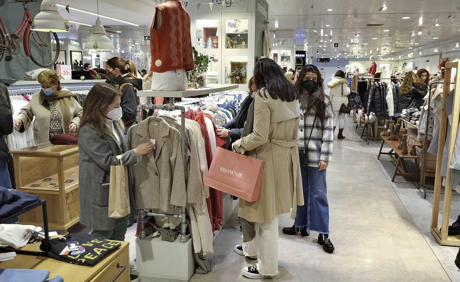
[{"label": "upper-left glass pane of white cabinet, beside the red knitted vest", "polygon": [[219,20],[199,19],[196,20],[196,48],[219,48]]}]

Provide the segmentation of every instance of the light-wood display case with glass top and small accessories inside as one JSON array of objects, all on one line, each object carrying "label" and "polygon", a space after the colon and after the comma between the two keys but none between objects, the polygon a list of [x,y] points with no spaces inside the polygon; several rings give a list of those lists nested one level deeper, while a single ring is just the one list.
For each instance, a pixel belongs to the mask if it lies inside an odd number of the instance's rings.
[{"label": "light-wood display case with glass top and small accessories inside", "polygon": [[[47,142],[10,153],[14,158],[17,190],[46,200],[49,227],[65,233],[80,220],[78,146]],[[43,215],[39,210],[30,211],[20,215],[19,221],[43,226]]]}]

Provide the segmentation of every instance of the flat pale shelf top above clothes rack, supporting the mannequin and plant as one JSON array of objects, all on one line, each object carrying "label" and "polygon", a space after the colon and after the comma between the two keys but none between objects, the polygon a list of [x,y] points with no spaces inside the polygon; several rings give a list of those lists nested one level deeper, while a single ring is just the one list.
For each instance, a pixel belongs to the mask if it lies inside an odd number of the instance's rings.
[{"label": "flat pale shelf top above clothes rack, supporting the mannequin and plant", "polygon": [[211,93],[224,92],[238,88],[238,84],[208,84],[205,88],[185,89],[181,91],[138,91],[138,97],[189,98]]}]

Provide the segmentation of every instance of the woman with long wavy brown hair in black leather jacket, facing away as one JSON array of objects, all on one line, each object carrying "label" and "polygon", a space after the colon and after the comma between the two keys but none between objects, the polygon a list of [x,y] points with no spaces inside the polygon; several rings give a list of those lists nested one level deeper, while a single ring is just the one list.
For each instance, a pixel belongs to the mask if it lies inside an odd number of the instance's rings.
[{"label": "woman with long wavy brown hair in black leather jacket, facing away", "polygon": [[408,71],[399,89],[398,109],[420,109],[426,92],[426,86],[420,78],[413,71]]}]

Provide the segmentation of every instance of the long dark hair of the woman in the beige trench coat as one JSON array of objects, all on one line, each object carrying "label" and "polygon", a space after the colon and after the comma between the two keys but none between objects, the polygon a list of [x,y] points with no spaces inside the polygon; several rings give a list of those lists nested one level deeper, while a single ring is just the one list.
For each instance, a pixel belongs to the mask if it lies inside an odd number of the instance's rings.
[{"label": "long dark hair of the woman in the beige trench coat", "polygon": [[[257,90],[265,87],[271,98],[280,98],[283,102],[292,102],[298,94],[286,77],[281,67],[272,59],[260,59],[254,67],[254,82]],[[260,95],[260,93],[259,93]]]}]

